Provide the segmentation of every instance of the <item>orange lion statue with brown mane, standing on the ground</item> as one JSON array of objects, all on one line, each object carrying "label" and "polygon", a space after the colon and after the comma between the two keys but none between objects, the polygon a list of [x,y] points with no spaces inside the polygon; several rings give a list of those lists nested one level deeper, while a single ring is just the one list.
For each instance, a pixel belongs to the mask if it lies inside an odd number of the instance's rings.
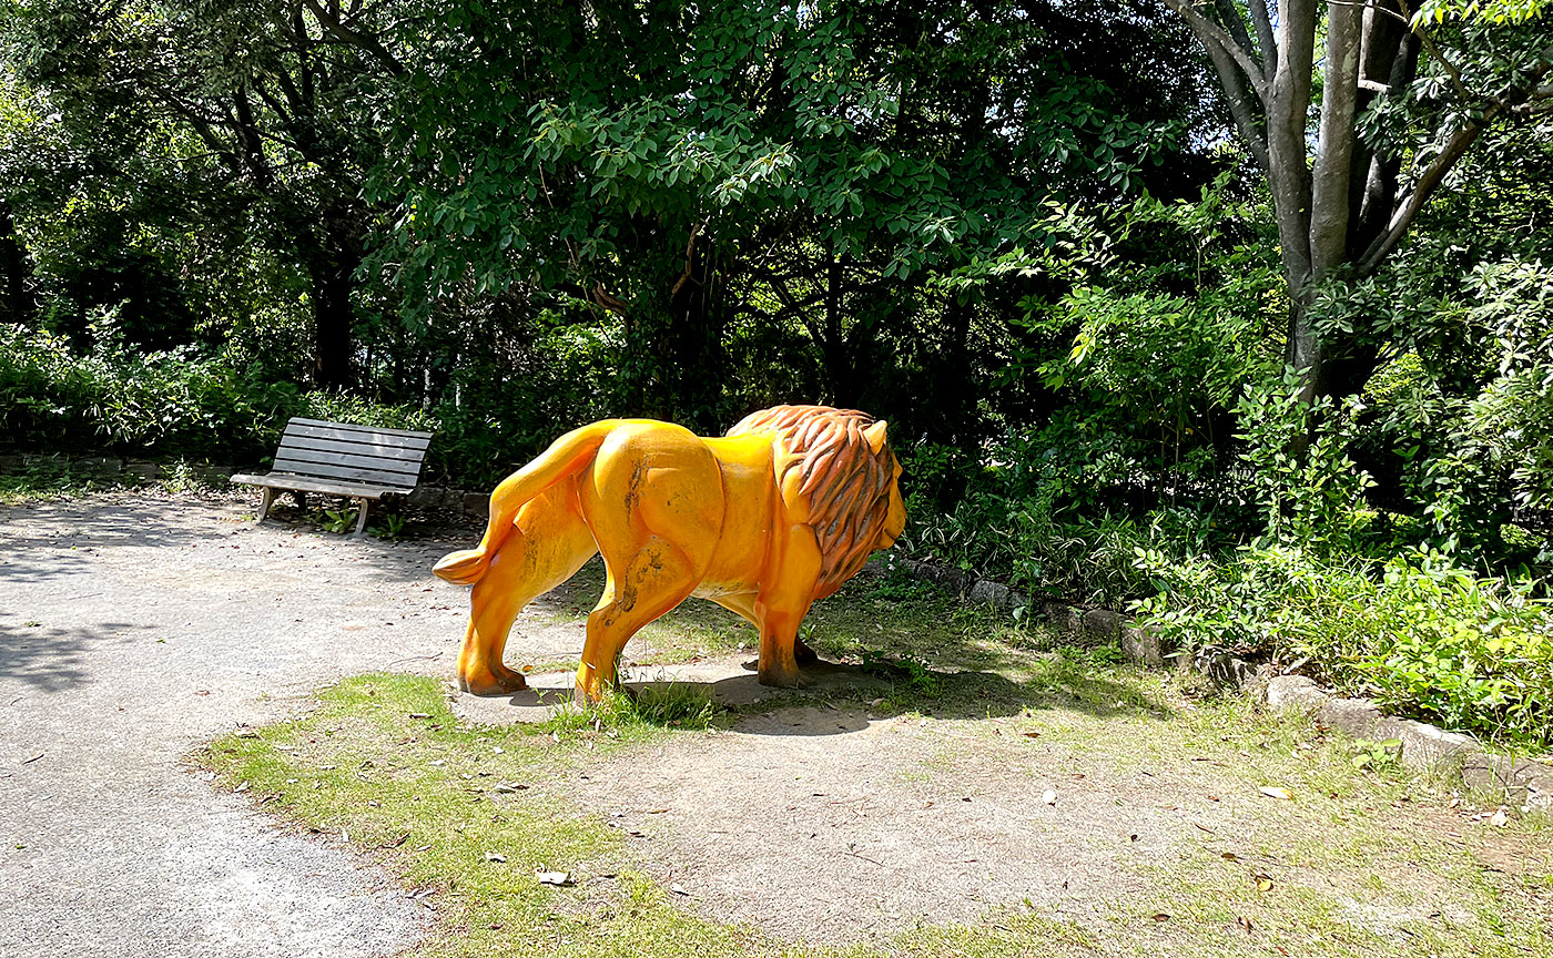
[{"label": "orange lion statue with brown mane, standing on the ground", "polygon": [[435,567],[474,585],[458,685],[525,688],[502,663],[512,620],[598,553],[607,579],[587,618],[579,702],[613,686],[631,637],[690,596],[759,629],[763,685],[797,685],[809,606],[905,526],[899,475],[882,421],[825,405],[753,413],[722,438],[652,419],[573,430],[495,488],[477,548]]}]

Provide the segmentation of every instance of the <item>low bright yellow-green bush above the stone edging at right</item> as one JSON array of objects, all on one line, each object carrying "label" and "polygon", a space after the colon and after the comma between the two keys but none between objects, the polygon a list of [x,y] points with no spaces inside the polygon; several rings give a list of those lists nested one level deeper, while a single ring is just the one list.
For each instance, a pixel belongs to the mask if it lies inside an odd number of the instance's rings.
[{"label": "low bright yellow-green bush above the stone edging at right", "polygon": [[1435,551],[1379,565],[1277,545],[1222,565],[1137,559],[1159,593],[1132,610],[1182,647],[1303,660],[1393,710],[1553,745],[1553,620],[1531,582],[1482,578]]}]

